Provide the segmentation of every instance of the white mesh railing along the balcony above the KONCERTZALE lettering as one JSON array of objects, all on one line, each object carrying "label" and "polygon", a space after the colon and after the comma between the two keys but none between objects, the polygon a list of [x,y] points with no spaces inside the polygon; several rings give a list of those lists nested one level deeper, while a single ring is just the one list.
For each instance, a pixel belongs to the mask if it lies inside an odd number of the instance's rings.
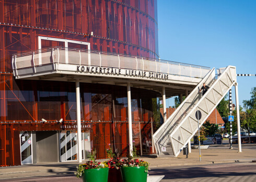
[{"label": "white mesh railing along the balcony above the KONCERTZALE lettering", "polygon": [[18,69],[31,67],[34,72],[37,72],[39,66],[59,63],[131,69],[197,78],[204,77],[210,71],[208,67],[193,64],[65,47],[50,47],[13,55],[12,66],[17,76]]}]

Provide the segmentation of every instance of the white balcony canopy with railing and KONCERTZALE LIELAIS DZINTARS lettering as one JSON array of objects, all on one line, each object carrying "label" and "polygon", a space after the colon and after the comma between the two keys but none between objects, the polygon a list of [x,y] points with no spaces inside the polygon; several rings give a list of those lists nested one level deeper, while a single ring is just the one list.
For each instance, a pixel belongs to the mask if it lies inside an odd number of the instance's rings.
[{"label": "white balcony canopy with railing and KONCERTZALE LIELAIS DZINTARS lettering", "polygon": [[166,96],[192,90],[210,71],[208,67],[127,56],[102,51],[50,47],[16,54],[12,61],[16,79],[123,85],[155,90]]}]

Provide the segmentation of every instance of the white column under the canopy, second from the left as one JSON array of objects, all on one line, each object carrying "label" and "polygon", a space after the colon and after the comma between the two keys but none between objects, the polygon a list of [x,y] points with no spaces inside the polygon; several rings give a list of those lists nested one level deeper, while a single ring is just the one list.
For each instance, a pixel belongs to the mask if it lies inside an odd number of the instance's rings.
[{"label": "white column under the canopy, second from the left", "polygon": [[129,152],[130,152],[130,155],[132,156],[133,134],[132,134],[131,83],[127,83],[127,101],[128,101]]}]

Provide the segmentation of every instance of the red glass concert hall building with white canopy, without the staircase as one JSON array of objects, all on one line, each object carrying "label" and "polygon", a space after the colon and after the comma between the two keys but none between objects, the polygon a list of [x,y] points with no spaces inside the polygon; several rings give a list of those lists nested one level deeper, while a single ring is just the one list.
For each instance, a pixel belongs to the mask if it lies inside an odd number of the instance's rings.
[{"label": "red glass concert hall building with white canopy, without the staircase", "polygon": [[154,153],[159,99],[210,71],[159,60],[157,26],[156,0],[0,1],[0,166],[78,160],[77,126],[83,160]]}]

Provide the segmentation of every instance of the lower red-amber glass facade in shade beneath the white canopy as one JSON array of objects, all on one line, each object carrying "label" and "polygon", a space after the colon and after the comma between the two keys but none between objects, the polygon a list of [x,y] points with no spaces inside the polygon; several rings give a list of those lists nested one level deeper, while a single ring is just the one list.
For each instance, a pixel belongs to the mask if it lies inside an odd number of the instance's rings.
[{"label": "lower red-amber glass facade in shade beneath the white canopy", "polygon": [[[75,83],[14,80],[12,75],[1,75],[0,79],[1,121],[16,125],[17,131],[67,130],[66,137],[76,130]],[[157,95],[138,88],[132,88],[131,93],[133,140],[139,148],[139,124],[143,143],[151,137],[152,99]],[[97,158],[107,157],[109,144],[118,148],[123,156],[128,152],[126,94],[123,86],[80,83],[82,129],[89,128],[91,148],[97,150]],[[41,123],[42,119],[48,122]],[[57,123],[60,119],[63,122]],[[76,142],[72,138],[61,153],[71,149]],[[143,147],[144,153],[150,153],[146,145]],[[76,155],[70,160],[75,158]]]}]

